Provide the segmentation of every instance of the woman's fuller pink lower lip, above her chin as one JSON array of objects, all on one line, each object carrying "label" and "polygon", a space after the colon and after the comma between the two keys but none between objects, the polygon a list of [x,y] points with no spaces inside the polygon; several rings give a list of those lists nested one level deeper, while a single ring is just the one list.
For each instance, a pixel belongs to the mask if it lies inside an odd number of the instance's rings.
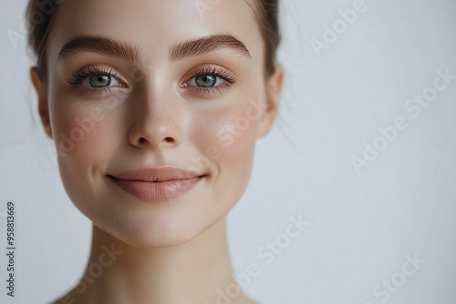
[{"label": "woman's fuller pink lower lip, above her chin", "polygon": [[181,195],[190,191],[192,187],[195,187],[202,177],[158,182],[110,178],[133,197],[150,202],[160,202],[181,197]]}]

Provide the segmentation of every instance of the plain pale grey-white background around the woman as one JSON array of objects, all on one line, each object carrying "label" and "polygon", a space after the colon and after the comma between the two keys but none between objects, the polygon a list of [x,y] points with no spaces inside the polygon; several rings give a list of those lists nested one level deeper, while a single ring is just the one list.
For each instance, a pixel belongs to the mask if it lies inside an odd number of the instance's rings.
[{"label": "plain pale grey-white background around the woman", "polygon": [[[356,1],[282,1],[281,114],[229,215],[235,271],[261,269],[245,292],[262,304],[378,304],[386,296],[374,287],[404,278],[405,256],[416,254],[424,264],[384,302],[456,303],[456,79],[419,117],[404,108],[430,92],[438,69],[456,75],[456,2],[366,0],[368,10],[316,56],[310,41],[323,41],[323,26]],[[26,1],[2,4],[0,302],[46,303],[82,274],[91,226],[47,153],[53,143],[28,78]],[[357,174],[350,158],[397,117],[407,127]],[[15,299],[5,295],[8,199],[16,201]],[[299,215],[310,225],[266,265],[257,250]]]}]

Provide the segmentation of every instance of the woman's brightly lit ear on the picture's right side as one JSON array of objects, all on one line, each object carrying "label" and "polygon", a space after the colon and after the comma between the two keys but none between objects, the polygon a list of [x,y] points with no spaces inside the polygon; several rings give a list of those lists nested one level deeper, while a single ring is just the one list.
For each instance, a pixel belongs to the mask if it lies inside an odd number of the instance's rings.
[{"label": "woman's brightly lit ear on the picture's right side", "polygon": [[258,138],[269,133],[275,122],[280,103],[280,94],[284,84],[284,66],[275,64],[275,72],[269,77],[266,84],[266,105],[261,117]]}]

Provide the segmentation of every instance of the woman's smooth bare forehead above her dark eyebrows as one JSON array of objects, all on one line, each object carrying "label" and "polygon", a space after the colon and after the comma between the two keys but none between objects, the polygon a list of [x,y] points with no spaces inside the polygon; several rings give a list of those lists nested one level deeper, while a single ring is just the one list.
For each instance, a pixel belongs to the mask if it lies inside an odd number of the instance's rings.
[{"label": "woman's smooth bare forehead above her dark eyebrows", "polygon": [[263,40],[252,7],[250,0],[64,0],[48,55],[57,58],[74,36],[103,35],[138,46],[144,62],[152,64],[181,41],[229,34],[261,57]]}]

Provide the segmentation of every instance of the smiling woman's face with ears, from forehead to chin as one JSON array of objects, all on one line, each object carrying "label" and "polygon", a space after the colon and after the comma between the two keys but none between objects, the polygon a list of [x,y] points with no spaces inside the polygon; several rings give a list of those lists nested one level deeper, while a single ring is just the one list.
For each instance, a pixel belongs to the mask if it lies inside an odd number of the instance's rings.
[{"label": "smiling woman's face with ears, from forehead to chin", "polygon": [[[264,80],[264,41],[247,2],[58,8],[48,83],[33,76],[34,84],[67,194],[99,228],[135,246],[174,246],[243,195],[256,138],[275,119],[268,87],[280,83]],[[125,171],[165,166],[198,178],[161,186],[120,180]]]}]

